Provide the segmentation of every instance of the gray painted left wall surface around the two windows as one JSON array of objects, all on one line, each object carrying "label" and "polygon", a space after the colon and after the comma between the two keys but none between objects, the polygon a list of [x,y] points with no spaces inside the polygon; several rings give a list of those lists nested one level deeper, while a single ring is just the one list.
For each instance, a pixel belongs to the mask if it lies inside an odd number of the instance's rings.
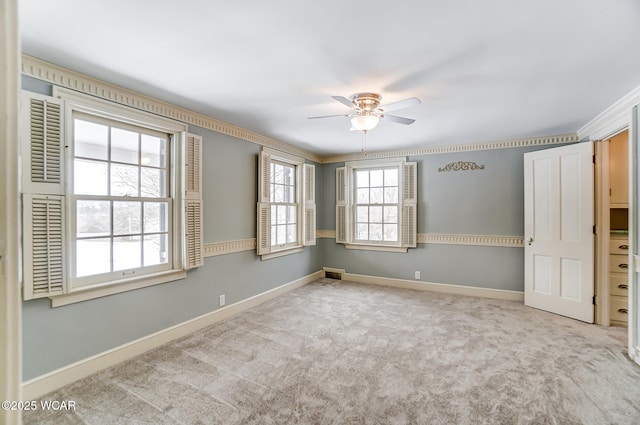
[{"label": "gray painted left wall surface around the two windows", "polygon": [[[51,94],[32,78],[23,88]],[[260,146],[203,128],[204,242],[255,237]],[[321,168],[321,167],[319,167]],[[319,169],[318,172],[321,172]],[[321,179],[317,193],[321,192]],[[322,269],[320,246],[261,261],[255,251],[209,257],[187,279],[68,306],[23,303],[23,380],[29,380]]]}]

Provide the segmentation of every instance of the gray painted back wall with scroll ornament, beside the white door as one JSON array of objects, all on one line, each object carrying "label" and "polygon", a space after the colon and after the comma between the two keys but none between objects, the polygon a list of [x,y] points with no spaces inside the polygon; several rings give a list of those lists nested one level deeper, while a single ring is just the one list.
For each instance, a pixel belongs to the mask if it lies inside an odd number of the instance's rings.
[{"label": "gray painted back wall with scroll ornament, beside the white door", "polygon": [[[523,155],[535,148],[424,155],[418,163],[418,233],[522,236]],[[483,170],[439,172],[451,162],[471,161]],[[325,229],[335,229],[335,169],[324,167]],[[524,290],[523,248],[419,244],[408,253],[349,250],[322,240],[324,266],[349,273],[425,282]]]}]

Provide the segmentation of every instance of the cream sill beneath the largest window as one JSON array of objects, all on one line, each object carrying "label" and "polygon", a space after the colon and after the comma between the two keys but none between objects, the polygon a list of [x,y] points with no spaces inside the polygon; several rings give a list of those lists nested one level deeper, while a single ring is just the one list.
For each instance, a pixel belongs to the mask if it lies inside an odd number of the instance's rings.
[{"label": "cream sill beneath the largest window", "polygon": [[91,287],[75,289],[73,292],[68,294],[50,297],[49,299],[51,300],[51,307],[61,307],[64,305],[92,300],[94,298],[132,291],[134,289],[146,288],[147,286],[158,285],[160,283],[172,282],[186,277],[186,270],[170,270],[167,272],[129,279],[121,283],[94,285]]}]

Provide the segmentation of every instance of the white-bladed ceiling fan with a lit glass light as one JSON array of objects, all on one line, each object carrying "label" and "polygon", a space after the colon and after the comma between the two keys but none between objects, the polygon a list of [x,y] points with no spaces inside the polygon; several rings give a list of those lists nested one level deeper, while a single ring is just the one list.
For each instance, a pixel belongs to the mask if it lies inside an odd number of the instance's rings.
[{"label": "white-bladed ceiling fan with a lit glass light", "polygon": [[389,115],[387,112],[395,111],[398,109],[409,108],[411,106],[419,105],[422,102],[417,97],[410,97],[408,99],[399,100],[397,102],[388,103],[386,105],[380,105],[382,96],[376,93],[356,93],[351,96],[351,99],[347,99],[344,96],[331,96],[333,99],[342,103],[343,105],[352,108],[353,112],[350,114],[337,114],[337,115],[322,115],[318,117],[308,117],[308,119],[318,118],[332,118],[332,117],[347,117],[351,118],[352,130],[359,130],[363,133],[373,129],[378,125],[382,118],[386,118],[389,121],[393,121],[399,124],[409,125],[415,122],[414,119],[398,117],[396,115]]}]

